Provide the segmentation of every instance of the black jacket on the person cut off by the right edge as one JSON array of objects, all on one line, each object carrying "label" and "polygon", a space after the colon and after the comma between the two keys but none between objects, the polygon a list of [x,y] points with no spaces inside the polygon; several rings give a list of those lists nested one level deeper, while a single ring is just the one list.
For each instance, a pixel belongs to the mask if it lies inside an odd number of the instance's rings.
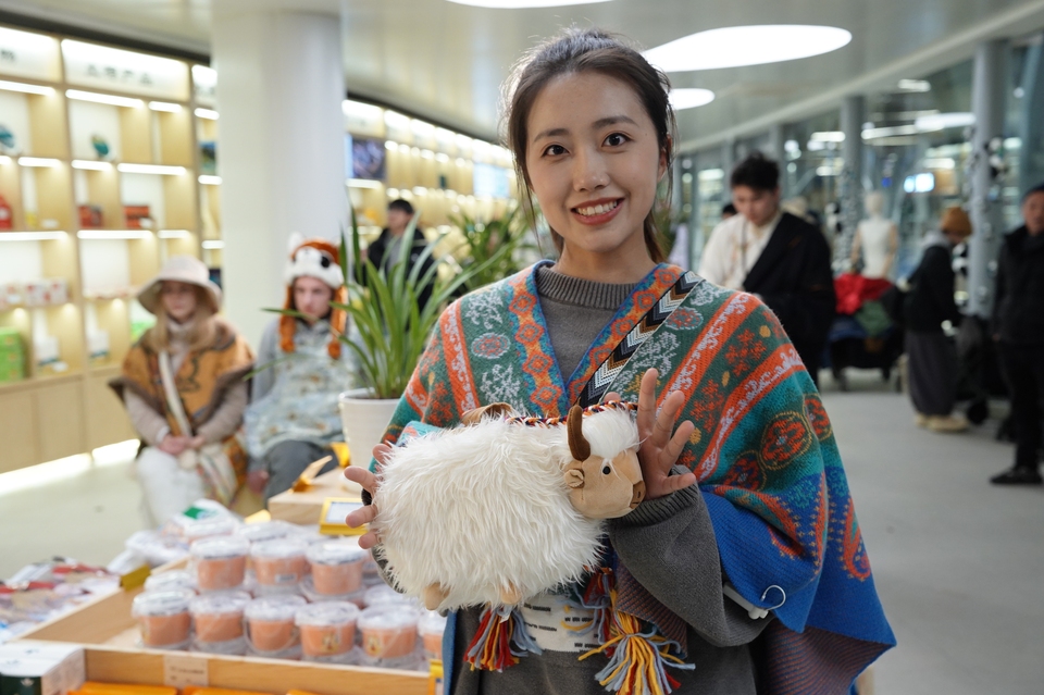
[{"label": "black jacket on the person cut off by the right edge", "polygon": [[1005,237],[992,331],[1002,343],[1044,345],[1044,234],[1021,226]]}]

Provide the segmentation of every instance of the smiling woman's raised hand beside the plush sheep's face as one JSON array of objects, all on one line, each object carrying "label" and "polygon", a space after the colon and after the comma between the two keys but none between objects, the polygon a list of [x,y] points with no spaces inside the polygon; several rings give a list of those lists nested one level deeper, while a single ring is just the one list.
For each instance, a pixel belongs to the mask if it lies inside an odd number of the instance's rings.
[{"label": "smiling woman's raised hand beside the plush sheep's face", "polygon": [[[660,411],[656,411],[656,380],[659,373],[650,369],[642,375],[638,389],[638,462],[642,464],[642,477],[645,480],[646,499],[656,499],[688,487],[696,483],[696,475],[671,475],[671,469],[678,462],[682,449],[696,425],[686,420],[678,425],[678,415],[685,405],[685,394],[671,392],[663,399]],[[606,400],[620,400],[619,394],[607,394]],[[671,433],[674,433],[671,436]]]}]

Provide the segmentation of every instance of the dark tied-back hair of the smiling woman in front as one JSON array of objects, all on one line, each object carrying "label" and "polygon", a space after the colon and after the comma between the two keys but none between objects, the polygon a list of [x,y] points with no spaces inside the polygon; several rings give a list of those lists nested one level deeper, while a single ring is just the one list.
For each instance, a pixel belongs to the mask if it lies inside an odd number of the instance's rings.
[{"label": "dark tied-back hair of the smiling woman in front", "polygon": [[[515,67],[505,98],[505,121],[508,147],[514,152],[514,167],[522,184],[522,204],[534,220],[533,190],[525,166],[525,150],[529,134],[526,124],[533,103],[545,86],[561,75],[597,72],[619,79],[638,96],[642,106],[656,127],[660,149],[667,153],[668,198],[657,201],[645,218],[643,232],[649,256],[657,263],[664,260],[663,250],[657,240],[655,222],[657,204],[670,206],[670,185],[674,159],[675,124],[674,110],[668,99],[671,84],[659,70],[652,67],[639,52],[622,40],[601,29],[567,29],[556,38],[537,46]],[[562,250],[562,237],[551,231],[555,246]]]}]

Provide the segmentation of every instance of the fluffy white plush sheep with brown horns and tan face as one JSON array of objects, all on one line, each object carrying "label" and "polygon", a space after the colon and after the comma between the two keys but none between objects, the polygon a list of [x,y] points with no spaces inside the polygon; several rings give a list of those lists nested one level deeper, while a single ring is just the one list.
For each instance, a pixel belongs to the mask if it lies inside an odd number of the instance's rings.
[{"label": "fluffy white plush sheep with brown horns and tan face", "polygon": [[513,606],[581,578],[602,520],[645,497],[633,409],[574,406],[540,420],[495,404],[396,447],[371,524],[395,584],[456,610]]}]

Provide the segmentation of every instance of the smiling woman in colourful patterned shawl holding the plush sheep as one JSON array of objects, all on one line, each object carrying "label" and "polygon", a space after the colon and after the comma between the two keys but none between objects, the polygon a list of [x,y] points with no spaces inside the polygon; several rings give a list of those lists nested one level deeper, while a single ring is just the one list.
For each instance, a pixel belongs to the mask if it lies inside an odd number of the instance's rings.
[{"label": "smiling woman in colourful patterned shawl holding the plush sheep", "polygon": [[[611,35],[570,29],[512,85],[519,181],[560,257],[450,305],[385,436],[410,421],[452,427],[494,402],[561,417],[622,397],[637,402],[646,498],[608,522],[601,568],[513,607],[513,641],[488,608],[452,613],[446,692],[599,693],[600,681],[621,695],[753,695],[791,678],[848,692],[894,637],[822,401],[779,321],[757,297],[662,262],[654,208],[675,141],[666,75]],[[376,460],[389,451],[378,445]],[[346,476],[373,501],[348,523],[377,518],[374,473]],[[742,609],[725,582],[769,617]],[[596,610],[587,599],[599,595]],[[608,634],[563,629],[585,620]]]}]

